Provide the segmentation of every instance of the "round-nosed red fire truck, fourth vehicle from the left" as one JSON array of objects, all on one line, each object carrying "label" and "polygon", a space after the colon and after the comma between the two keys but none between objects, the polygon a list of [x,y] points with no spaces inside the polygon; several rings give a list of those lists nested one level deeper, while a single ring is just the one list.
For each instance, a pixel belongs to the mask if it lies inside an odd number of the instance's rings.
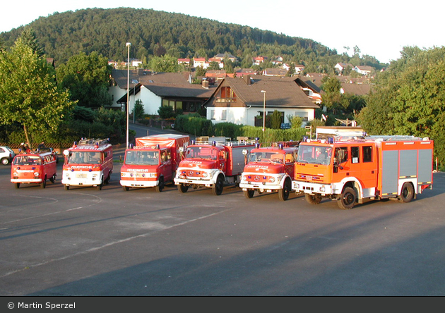
[{"label": "round-nosed red fire truck, fourth vehicle from the left", "polygon": [[239,183],[244,168],[243,150],[250,151],[253,143],[192,142],[186,149],[186,159],[182,160],[174,178],[179,192],[193,188],[212,188],[214,195],[221,195],[225,183]]}]

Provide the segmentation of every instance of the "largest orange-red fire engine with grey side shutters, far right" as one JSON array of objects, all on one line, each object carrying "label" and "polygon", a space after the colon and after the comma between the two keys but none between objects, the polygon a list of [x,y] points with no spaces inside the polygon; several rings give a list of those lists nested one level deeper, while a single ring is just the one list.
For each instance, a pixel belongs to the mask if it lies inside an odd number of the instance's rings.
[{"label": "largest orange-red fire engine with grey side shutters, far right", "polygon": [[433,146],[410,136],[307,140],[299,145],[292,190],[311,204],[337,200],[340,209],[384,198],[410,202],[432,189]]}]

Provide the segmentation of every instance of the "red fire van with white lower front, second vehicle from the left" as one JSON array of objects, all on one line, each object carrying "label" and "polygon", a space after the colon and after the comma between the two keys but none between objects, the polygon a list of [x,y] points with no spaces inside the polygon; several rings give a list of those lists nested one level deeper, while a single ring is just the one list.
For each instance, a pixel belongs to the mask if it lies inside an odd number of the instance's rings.
[{"label": "red fire van with white lower front, second vehicle from the left", "polygon": [[83,139],[64,150],[61,183],[71,186],[93,186],[102,190],[113,172],[113,147],[107,139]]}]

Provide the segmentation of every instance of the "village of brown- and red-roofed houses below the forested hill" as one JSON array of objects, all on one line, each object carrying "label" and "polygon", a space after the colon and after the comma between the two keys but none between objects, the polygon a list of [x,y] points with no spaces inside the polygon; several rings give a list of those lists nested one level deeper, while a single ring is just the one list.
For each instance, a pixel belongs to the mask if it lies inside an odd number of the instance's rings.
[{"label": "village of brown- and red-roofed houses below the forested hill", "polygon": [[[302,121],[309,122],[314,120],[315,109],[323,109],[321,85],[326,74],[304,73],[303,65],[296,65],[290,71],[290,65],[283,63],[279,56],[272,61],[274,68],[261,71],[236,68],[235,73],[226,73],[225,59],[233,63],[237,61],[235,56],[227,53],[209,59],[178,59],[178,64],[189,69],[183,73],[145,70],[141,68],[142,62],[136,59],[122,64],[109,61],[115,68],[112,70],[112,87],[109,88],[113,98],[111,108],[125,111],[128,98],[129,112],[138,102],[150,115],[158,114],[160,106],[171,106],[173,111],[185,114],[201,113],[213,123],[243,125],[259,125],[263,113],[270,115],[275,110],[280,112],[282,123],[290,123],[291,116],[299,116]],[[264,61],[265,58],[259,56],[252,60],[252,64],[261,65]],[[217,63],[220,69],[208,69],[212,62]],[[196,77],[198,67],[206,70],[205,76]],[[343,75],[347,68],[348,73],[355,71],[354,77]],[[338,63],[335,70],[341,93],[362,96],[372,89],[374,68]],[[196,84],[196,81],[200,83]]]}]

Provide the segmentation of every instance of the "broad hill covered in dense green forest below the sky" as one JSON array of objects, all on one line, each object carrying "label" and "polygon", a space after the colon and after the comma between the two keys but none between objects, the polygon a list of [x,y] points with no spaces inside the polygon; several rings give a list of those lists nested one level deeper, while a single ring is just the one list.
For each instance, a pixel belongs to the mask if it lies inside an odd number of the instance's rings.
[{"label": "broad hill covered in dense green forest below the sky", "polygon": [[[246,61],[243,67],[249,67],[245,65],[254,56],[280,55],[287,63],[304,64],[313,71],[350,62],[348,56],[338,55],[312,39],[152,9],[88,8],[54,13],[29,25],[56,65],[82,51],[97,51],[108,59],[122,61],[126,59],[126,42],[131,42],[131,57],[141,60],[165,53],[194,58],[228,52],[237,56],[241,66]],[[22,31],[23,27],[18,27],[2,32],[0,43],[11,47]],[[382,66],[374,57],[357,58],[357,65]]]}]

